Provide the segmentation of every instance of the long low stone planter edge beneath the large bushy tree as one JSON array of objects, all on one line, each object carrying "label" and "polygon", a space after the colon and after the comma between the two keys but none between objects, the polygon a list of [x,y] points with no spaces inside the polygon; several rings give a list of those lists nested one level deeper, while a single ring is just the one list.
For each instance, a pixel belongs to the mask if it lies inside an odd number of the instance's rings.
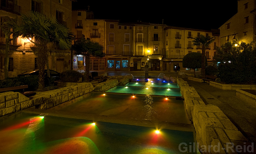
[{"label": "long low stone planter edge beneath the large bushy tree", "polygon": [[210,85],[222,90],[256,89],[256,84],[222,84],[210,81]]}]

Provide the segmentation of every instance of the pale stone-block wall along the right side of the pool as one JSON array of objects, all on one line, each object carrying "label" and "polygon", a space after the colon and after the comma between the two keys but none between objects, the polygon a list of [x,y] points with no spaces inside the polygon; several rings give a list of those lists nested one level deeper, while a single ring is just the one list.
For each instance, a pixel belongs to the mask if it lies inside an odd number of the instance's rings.
[{"label": "pale stone-block wall along the right side of the pool", "polygon": [[[247,143],[247,139],[217,106],[205,105],[195,88],[183,79],[177,79],[177,83],[185,100],[188,117],[194,124],[198,148],[202,153],[225,154],[227,149],[223,148],[227,148],[227,145],[231,147],[229,143],[234,143],[235,147]],[[204,146],[207,146],[206,152]],[[220,151],[214,151],[213,146],[219,146]],[[229,153],[231,149],[234,150],[230,148]]]}]

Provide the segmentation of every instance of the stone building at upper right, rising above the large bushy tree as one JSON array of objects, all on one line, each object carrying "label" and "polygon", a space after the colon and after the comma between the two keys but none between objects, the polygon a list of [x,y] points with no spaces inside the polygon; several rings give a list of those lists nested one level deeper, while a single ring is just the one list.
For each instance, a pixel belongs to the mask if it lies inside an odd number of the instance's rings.
[{"label": "stone building at upper right, rising above the large bushy tree", "polygon": [[256,1],[238,0],[238,12],[225,22],[220,30],[220,45],[237,39],[255,45],[256,37]]}]

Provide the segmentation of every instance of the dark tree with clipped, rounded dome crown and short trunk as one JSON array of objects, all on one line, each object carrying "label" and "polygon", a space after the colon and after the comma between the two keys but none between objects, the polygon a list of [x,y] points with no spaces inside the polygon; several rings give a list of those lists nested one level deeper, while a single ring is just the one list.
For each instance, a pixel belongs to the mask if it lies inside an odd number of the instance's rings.
[{"label": "dark tree with clipped, rounded dome crown and short trunk", "polygon": [[196,68],[202,68],[201,61],[202,61],[202,54],[192,52],[184,56],[182,60],[182,66],[183,68],[194,69],[194,77],[196,77]]}]

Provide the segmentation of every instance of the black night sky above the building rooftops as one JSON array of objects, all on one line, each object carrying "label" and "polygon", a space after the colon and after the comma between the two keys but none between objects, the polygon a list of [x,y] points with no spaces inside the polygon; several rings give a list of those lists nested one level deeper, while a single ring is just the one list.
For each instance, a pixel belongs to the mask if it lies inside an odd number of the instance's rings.
[{"label": "black night sky above the building rooftops", "polygon": [[[95,19],[118,19],[128,22],[150,22],[202,30],[218,29],[237,13],[237,0],[170,0],[162,1],[112,1],[112,3],[77,0],[75,9],[94,12]],[[159,2],[159,3],[158,3]],[[78,7],[77,7],[78,6]]]}]

